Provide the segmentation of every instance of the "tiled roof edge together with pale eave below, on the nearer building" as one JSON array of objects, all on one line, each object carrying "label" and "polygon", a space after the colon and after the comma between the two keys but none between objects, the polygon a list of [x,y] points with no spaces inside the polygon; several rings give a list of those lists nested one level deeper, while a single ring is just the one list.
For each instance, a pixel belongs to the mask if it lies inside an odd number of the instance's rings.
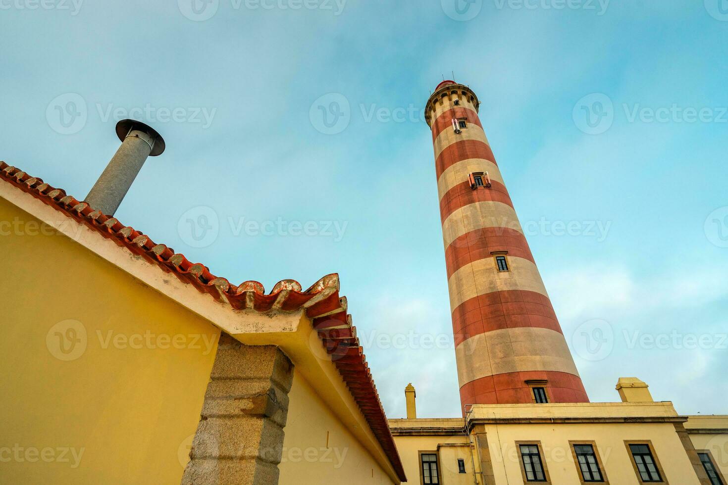
[{"label": "tiled roof edge together with pale eave below, on the nearer building", "polygon": [[[269,294],[258,281],[232,285],[205,265],[189,262],[164,244],[154,244],[149,236],[4,161],[0,161],[0,180],[0,198],[240,342],[279,346],[304,377],[313,374],[313,369],[324,372],[327,382],[306,380],[347,425],[352,421],[352,415],[346,415],[347,406],[359,409],[360,415],[353,416],[355,425],[347,428],[373,457],[380,457],[380,465],[395,482],[406,481],[363,348],[347,314],[346,297],[339,296],[337,274],[324,276],[305,291],[294,280],[280,281]],[[314,332],[321,348],[312,346]]]}]

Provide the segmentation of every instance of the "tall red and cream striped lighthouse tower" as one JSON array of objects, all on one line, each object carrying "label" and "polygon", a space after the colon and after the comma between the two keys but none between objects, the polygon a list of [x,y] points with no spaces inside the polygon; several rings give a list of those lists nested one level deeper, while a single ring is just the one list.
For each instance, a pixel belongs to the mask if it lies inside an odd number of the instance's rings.
[{"label": "tall red and cream striped lighthouse tower", "polygon": [[[478,97],[443,81],[427,101],[463,412],[588,402],[483,126]],[[538,396],[537,396],[538,395]]]}]

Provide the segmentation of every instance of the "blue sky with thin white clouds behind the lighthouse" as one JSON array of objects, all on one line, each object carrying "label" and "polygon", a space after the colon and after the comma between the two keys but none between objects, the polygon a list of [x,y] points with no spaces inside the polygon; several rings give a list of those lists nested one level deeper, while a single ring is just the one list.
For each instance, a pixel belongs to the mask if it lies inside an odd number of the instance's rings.
[{"label": "blue sky with thin white clouds behind the lighthouse", "polygon": [[422,116],[454,71],[590,398],[727,412],[728,1],[191,1],[0,0],[0,159],[82,199],[149,122],[116,217],[236,284],[339,273],[389,417],[408,382],[457,416]]}]

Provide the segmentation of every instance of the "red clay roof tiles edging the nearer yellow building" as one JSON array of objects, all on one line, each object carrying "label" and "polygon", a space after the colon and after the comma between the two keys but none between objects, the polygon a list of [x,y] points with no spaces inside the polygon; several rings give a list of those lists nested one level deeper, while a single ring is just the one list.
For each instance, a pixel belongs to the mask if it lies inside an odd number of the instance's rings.
[{"label": "red clay roof tiles edging the nearer yellow building", "polygon": [[165,244],[154,243],[149,236],[119,223],[115,217],[94,210],[87,203],[67,196],[63,189],[53,188],[38,177],[31,177],[4,161],[0,161],[0,180],[11,183],[122,248],[144,257],[166,273],[172,273],[184,283],[193,285],[199,292],[210,294],[217,301],[225,300],[235,310],[260,313],[304,310],[306,316],[312,318],[323,347],[339,369],[339,374],[387,453],[397,476],[401,481],[406,481],[387,416],[356,336],[356,327],[352,326],[351,315],[347,314],[347,299],[339,296],[338,274],[324,276],[306,290],[302,289],[298,281],[285,279],[266,294],[258,281],[231,284],[226,278],[210,273],[205,265],[190,262],[183,254],[175,253]]}]

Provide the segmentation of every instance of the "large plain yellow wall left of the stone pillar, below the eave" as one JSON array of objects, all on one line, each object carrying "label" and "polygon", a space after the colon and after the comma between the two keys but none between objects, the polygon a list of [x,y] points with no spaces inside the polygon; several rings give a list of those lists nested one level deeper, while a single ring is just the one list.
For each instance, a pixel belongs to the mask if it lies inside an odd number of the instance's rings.
[{"label": "large plain yellow wall left of the stone pillar, below the eave", "polygon": [[219,331],[4,199],[0,230],[0,482],[179,483]]}]

